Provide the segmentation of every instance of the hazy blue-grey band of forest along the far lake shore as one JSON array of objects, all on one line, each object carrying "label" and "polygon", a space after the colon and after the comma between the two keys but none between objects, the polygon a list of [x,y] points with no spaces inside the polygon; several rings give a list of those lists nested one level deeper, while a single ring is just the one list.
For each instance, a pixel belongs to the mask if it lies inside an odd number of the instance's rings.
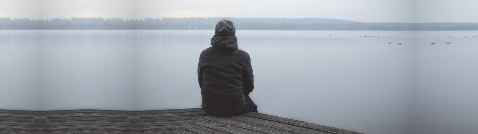
[{"label": "hazy blue-grey band of forest along the far lake shore", "polygon": [[[237,30],[477,31],[478,23],[365,23],[325,18],[228,18]],[[212,30],[221,17],[11,19],[0,30]]]}]

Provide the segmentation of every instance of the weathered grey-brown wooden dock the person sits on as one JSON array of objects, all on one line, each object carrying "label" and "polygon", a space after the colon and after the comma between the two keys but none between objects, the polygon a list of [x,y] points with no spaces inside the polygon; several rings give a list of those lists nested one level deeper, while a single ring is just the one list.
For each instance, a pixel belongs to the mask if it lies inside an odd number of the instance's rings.
[{"label": "weathered grey-brown wooden dock the person sits on", "polygon": [[262,113],[218,117],[202,108],[0,110],[0,134],[363,134]]}]

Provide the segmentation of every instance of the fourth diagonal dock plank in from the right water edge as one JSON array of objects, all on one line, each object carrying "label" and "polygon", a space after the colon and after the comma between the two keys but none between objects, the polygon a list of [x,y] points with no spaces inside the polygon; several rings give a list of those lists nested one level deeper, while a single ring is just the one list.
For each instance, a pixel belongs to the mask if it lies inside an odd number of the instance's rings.
[{"label": "fourth diagonal dock plank in from the right water edge", "polygon": [[226,133],[231,133],[231,134],[262,134],[262,133],[251,131],[248,129],[243,129],[243,128],[231,126],[228,124],[220,124],[220,123],[216,123],[216,122],[212,122],[212,121],[208,121],[204,119],[201,119],[194,124],[211,128],[211,129],[216,129]]}]

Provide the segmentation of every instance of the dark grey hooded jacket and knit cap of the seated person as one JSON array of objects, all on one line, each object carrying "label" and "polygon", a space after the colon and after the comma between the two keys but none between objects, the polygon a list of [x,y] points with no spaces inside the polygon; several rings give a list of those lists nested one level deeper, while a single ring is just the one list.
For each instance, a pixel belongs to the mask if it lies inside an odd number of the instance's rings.
[{"label": "dark grey hooded jacket and knit cap of the seated person", "polygon": [[236,29],[231,21],[216,24],[211,47],[199,56],[197,76],[202,107],[208,114],[232,116],[245,106],[244,95],[254,89],[249,53],[238,50]]}]

